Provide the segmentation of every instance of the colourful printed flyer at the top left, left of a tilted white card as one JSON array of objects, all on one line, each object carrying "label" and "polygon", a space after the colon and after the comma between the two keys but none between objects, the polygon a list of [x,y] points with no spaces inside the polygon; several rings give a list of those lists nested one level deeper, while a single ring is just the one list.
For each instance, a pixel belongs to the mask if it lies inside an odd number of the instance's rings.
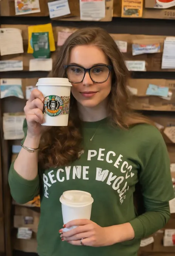
[{"label": "colourful printed flyer at the top left, left of a tilted white card", "polygon": [[15,14],[40,13],[39,0],[14,0]]}]

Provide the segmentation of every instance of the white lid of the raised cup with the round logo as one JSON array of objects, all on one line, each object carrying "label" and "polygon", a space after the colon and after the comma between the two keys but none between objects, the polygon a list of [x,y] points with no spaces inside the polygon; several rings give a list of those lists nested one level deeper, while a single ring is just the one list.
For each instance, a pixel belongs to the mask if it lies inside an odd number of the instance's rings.
[{"label": "white lid of the raised cup with the round logo", "polygon": [[52,86],[72,86],[68,78],[58,78],[58,77],[46,77],[39,78],[36,86],[52,85]]}]

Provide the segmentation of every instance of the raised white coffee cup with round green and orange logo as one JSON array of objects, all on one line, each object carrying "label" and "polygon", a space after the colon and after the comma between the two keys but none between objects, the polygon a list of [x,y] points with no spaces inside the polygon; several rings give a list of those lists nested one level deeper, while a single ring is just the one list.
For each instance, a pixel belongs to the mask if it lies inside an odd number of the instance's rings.
[{"label": "raised white coffee cup with round green and orange logo", "polygon": [[39,78],[37,89],[44,95],[44,118],[47,126],[67,126],[71,86],[67,78]]}]

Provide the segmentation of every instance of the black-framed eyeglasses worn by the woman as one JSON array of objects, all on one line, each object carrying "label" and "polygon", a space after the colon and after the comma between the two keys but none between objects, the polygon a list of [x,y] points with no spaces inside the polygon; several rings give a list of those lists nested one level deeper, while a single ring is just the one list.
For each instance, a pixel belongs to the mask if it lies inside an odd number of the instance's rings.
[{"label": "black-framed eyeglasses worn by the woman", "polygon": [[92,66],[91,68],[83,68],[78,65],[65,65],[66,78],[71,83],[82,83],[85,78],[86,72],[89,72],[90,79],[95,83],[104,83],[109,78],[112,66],[106,64],[99,64]]}]

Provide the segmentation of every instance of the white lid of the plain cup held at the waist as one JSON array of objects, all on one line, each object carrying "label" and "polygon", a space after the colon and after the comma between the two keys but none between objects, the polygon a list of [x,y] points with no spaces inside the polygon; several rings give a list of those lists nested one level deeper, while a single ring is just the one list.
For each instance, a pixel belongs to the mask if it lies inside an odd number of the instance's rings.
[{"label": "white lid of the plain cup held at the waist", "polygon": [[67,206],[80,207],[93,203],[91,194],[81,190],[68,190],[63,192],[59,201]]}]

